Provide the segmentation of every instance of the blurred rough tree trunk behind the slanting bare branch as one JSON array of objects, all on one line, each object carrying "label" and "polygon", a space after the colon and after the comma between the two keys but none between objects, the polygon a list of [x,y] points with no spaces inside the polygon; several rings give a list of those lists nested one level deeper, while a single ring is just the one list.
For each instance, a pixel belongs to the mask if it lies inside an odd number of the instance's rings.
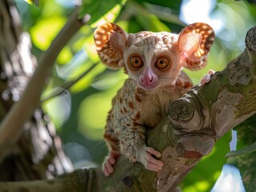
[{"label": "blurred rough tree trunk behind the slanting bare branch", "polygon": [[[30,54],[29,34],[22,33],[14,2],[0,1],[0,118],[17,102],[34,73],[37,61]],[[31,93],[33,94],[33,93]],[[24,111],[26,108],[24,108]],[[15,121],[15,119],[13,119]],[[14,134],[15,135],[15,134]],[[0,181],[54,178],[73,170],[59,136],[47,114],[40,108],[22,127],[11,150],[0,159]],[[16,141],[17,139],[17,141]]]}]

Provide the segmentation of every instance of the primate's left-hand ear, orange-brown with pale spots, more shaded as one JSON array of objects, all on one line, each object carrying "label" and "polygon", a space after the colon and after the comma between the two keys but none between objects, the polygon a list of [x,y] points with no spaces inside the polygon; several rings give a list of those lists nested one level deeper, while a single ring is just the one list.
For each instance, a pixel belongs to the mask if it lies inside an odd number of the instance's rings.
[{"label": "primate's left-hand ear, orange-brown with pale spots, more shaded", "polygon": [[114,23],[107,22],[98,26],[94,33],[94,41],[100,60],[113,70],[124,66],[123,48],[128,34]]}]

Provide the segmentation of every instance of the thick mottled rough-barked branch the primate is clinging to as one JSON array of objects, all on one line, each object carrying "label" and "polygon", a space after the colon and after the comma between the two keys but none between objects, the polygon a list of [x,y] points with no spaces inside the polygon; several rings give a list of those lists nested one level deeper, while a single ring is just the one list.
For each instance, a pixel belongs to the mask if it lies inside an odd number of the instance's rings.
[{"label": "thick mottled rough-barked branch the primate is clinging to", "polygon": [[[195,86],[173,102],[169,113],[148,131],[148,146],[162,152],[158,173],[121,157],[105,178],[100,169],[77,170],[50,181],[0,183],[6,191],[173,191],[211,152],[217,139],[256,111],[256,27],[246,35],[246,50],[205,86]],[[49,184],[51,183],[51,185]],[[39,188],[38,186],[43,186]],[[11,187],[11,188],[10,188]]]}]

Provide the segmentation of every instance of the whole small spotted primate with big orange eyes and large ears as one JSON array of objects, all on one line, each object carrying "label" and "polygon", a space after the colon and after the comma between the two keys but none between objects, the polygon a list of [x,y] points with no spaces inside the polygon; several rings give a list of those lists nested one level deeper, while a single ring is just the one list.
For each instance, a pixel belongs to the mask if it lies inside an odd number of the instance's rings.
[{"label": "whole small spotted primate with big orange eyes and large ears", "polygon": [[123,154],[131,162],[141,162],[148,170],[164,166],[159,151],[147,146],[145,135],[167,113],[169,103],[192,88],[182,71],[200,70],[207,63],[215,34],[205,23],[186,26],[180,34],[143,31],[127,34],[114,23],[95,30],[100,60],[112,70],[124,68],[128,79],[112,100],[104,139],[109,153],[103,164],[111,174],[116,158]]}]

